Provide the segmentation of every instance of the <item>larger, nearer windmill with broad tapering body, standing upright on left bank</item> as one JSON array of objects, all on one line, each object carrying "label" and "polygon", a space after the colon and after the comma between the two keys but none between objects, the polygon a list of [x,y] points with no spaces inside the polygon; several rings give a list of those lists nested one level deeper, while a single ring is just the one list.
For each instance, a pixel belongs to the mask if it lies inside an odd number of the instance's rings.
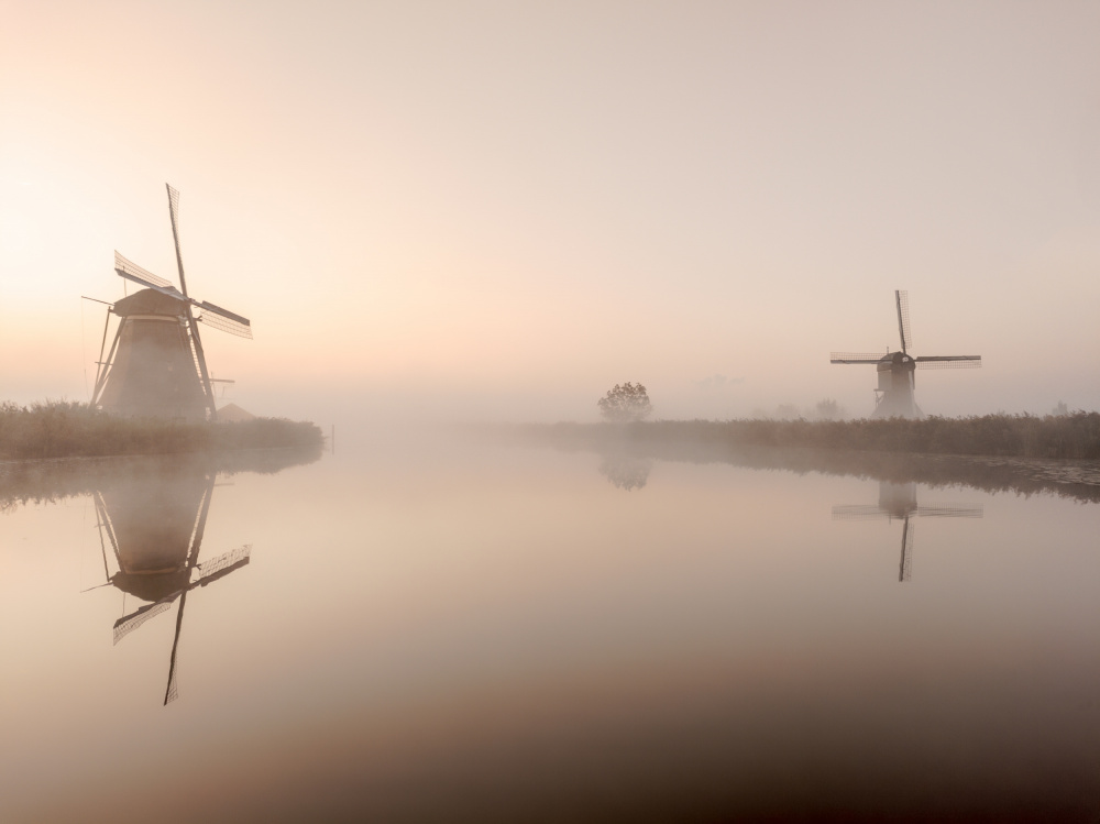
[{"label": "larger, nearer windmill with broad tapering body, standing upright on left bank", "polygon": [[[228,309],[188,296],[179,252],[179,193],[165,186],[179,289],[114,252],[118,275],[145,288],[107,310],[91,403],[118,415],[216,420],[218,410],[211,388],[215,381],[207,369],[198,325],[251,339],[252,323]],[[112,315],[119,323],[105,359]]]}]

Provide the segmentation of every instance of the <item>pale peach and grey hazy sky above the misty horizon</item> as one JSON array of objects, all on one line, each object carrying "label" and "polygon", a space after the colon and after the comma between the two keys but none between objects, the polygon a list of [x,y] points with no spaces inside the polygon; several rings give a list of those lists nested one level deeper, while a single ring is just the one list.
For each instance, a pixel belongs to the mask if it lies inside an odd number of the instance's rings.
[{"label": "pale peach and grey hazy sky above the misty horizon", "polygon": [[[113,250],[262,415],[1100,407],[1100,3],[0,0],[0,398],[87,399]],[[87,371],[87,377],[86,377]],[[743,378],[719,389],[714,375]]]}]

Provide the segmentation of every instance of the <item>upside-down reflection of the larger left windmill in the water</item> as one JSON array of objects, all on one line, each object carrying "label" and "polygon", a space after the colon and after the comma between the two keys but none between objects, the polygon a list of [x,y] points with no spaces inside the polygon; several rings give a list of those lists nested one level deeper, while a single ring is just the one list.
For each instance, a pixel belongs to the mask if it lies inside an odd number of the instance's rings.
[{"label": "upside-down reflection of the larger left windmill in the water", "polygon": [[[246,565],[252,552],[244,546],[199,563],[216,477],[216,470],[201,465],[162,466],[94,494],[108,583],[147,602],[116,622],[114,644],[178,601],[165,704],[179,694],[176,655],[188,593]],[[108,546],[117,567],[113,574]]]}]

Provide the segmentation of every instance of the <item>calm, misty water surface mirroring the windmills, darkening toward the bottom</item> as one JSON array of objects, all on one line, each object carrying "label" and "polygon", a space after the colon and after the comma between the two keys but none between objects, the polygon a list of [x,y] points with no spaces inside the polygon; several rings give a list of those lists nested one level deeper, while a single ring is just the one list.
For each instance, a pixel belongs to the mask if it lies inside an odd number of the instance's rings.
[{"label": "calm, misty water surface mirroring the windmills, darkening toward the bottom", "polygon": [[8,482],[0,821],[1100,820],[1100,505],[278,463]]}]

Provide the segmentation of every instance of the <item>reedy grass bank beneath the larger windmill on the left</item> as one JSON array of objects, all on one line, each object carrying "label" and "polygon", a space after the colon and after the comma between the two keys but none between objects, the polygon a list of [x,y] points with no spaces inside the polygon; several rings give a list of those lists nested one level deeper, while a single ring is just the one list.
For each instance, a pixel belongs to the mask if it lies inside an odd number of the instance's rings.
[{"label": "reedy grass bank beneath the larger windmill on the left", "polygon": [[322,442],[315,424],[283,418],[185,424],[117,418],[65,400],[25,407],[0,404],[0,460],[301,448]]}]

